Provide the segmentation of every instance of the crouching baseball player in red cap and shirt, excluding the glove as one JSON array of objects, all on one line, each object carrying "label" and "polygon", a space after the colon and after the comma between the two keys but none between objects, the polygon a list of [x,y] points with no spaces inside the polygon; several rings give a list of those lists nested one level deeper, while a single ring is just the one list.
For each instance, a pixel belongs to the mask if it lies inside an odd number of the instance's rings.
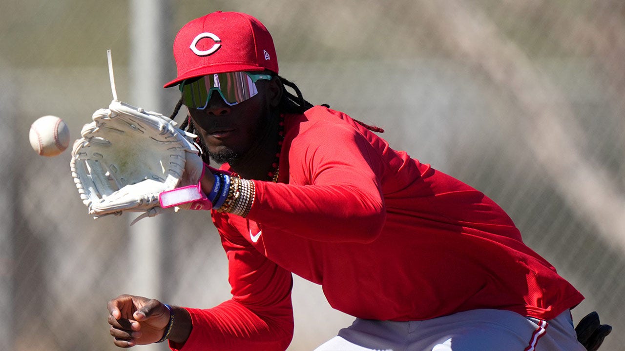
[{"label": "crouching baseball player in red cap and shirt, excluding the glove", "polygon": [[501,207],[392,149],[381,129],[309,104],[278,75],[256,18],[194,19],[173,52],[178,76],[165,87],[181,91],[184,127],[199,135],[205,162],[222,164],[206,164],[199,194],[176,205],[211,209],[232,299],[201,309],[121,295],[108,304],[115,345],[285,350],[292,274],[356,318],[318,351],[601,344],[598,319],[578,342],[570,310],[582,295],[522,242]]}]

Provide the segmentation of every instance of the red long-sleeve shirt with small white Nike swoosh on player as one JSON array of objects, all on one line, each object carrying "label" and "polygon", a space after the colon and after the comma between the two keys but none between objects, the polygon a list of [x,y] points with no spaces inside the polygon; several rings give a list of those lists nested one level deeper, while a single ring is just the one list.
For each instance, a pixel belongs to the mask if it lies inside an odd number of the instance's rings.
[{"label": "red long-sleeve shirt with small white Nike swoosh on player", "polygon": [[285,131],[279,182],[254,181],[246,218],[212,212],[233,297],[187,309],[183,350],[286,349],[291,272],[362,319],[504,309],[549,320],[583,299],[491,199],[349,116],[317,106],[285,116]]}]

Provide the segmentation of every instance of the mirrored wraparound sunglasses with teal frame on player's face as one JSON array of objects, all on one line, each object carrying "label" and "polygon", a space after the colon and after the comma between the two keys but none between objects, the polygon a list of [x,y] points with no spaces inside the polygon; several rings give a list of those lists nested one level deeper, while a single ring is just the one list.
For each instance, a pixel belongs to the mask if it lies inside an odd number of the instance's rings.
[{"label": "mirrored wraparound sunglasses with teal frame on player's face", "polygon": [[183,94],[183,104],[192,109],[206,109],[212,92],[219,92],[228,106],[234,106],[258,94],[256,82],[271,80],[270,74],[229,72],[209,74],[199,79],[183,81],[179,89]]}]

